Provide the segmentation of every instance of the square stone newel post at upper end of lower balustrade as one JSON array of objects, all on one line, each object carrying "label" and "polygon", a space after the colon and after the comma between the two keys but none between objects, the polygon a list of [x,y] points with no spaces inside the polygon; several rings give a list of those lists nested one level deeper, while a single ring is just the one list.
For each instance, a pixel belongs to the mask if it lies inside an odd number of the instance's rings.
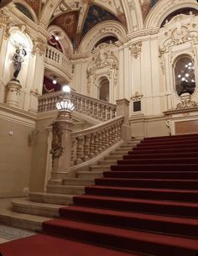
[{"label": "square stone newel post at upper end of lower balustrade", "polygon": [[117,100],[117,117],[124,116],[124,122],[121,127],[121,138],[128,142],[132,138],[132,130],[129,126],[129,101],[127,99]]}]

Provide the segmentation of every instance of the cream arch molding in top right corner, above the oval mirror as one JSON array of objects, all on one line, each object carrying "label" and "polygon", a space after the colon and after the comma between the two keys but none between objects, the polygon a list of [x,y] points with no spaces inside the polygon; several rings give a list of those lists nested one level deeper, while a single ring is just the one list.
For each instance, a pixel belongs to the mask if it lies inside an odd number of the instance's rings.
[{"label": "cream arch molding in top right corner, above the oval mirror", "polygon": [[145,19],[145,28],[160,27],[169,13],[173,13],[180,8],[195,8],[198,10],[198,4],[195,0],[164,0],[156,3],[154,8],[148,13]]}]

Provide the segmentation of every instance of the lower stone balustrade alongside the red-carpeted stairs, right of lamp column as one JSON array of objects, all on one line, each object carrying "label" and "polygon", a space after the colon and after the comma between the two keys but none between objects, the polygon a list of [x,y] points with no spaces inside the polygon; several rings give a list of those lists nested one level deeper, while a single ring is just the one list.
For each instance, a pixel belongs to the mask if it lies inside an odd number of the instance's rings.
[{"label": "lower stone balustrade alongside the red-carpeted stairs, right of lamp column", "polygon": [[70,166],[96,157],[121,140],[123,121],[124,117],[121,116],[82,130],[81,133],[71,133]]}]

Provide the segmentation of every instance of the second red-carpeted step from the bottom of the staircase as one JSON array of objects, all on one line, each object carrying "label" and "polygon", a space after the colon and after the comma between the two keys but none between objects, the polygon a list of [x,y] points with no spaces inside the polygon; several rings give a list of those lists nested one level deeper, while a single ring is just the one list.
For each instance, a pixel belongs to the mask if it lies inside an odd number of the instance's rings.
[{"label": "second red-carpeted step from the bottom of the staircase", "polygon": [[82,206],[60,208],[60,217],[102,223],[102,225],[106,224],[108,226],[127,227],[144,231],[150,230],[198,238],[198,219],[112,211]]}]

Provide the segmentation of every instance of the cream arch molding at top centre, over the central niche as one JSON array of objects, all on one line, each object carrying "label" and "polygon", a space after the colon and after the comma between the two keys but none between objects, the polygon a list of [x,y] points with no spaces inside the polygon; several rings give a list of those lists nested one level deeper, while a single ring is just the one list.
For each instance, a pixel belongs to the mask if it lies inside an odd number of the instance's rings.
[{"label": "cream arch molding at top centre, over the central niche", "polygon": [[115,36],[122,39],[127,34],[126,29],[117,21],[105,21],[97,24],[82,39],[78,53],[91,52],[95,44],[106,36]]}]

